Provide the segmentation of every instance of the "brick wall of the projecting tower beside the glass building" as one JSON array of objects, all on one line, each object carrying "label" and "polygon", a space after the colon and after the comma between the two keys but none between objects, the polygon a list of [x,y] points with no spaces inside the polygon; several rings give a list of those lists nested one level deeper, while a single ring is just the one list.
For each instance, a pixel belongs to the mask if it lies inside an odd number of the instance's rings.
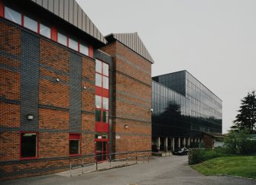
[{"label": "brick wall of the projecting tower beside the glass building", "polygon": [[151,62],[117,41],[101,49],[114,57],[114,152],[151,150]]}]

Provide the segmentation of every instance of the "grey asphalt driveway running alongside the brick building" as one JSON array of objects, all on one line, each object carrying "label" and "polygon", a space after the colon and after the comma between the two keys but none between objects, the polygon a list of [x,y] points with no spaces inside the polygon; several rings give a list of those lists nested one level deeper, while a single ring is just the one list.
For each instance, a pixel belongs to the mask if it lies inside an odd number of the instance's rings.
[{"label": "grey asphalt driveway running alongside the brick building", "polygon": [[75,177],[47,175],[0,182],[3,184],[239,184],[255,185],[256,180],[240,177],[203,176],[187,164],[187,156],[154,157],[149,163]]}]

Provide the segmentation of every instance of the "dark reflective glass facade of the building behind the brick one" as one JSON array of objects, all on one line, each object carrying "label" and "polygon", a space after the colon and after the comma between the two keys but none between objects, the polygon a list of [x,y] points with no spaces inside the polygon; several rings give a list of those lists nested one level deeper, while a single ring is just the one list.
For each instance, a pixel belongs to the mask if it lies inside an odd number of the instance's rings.
[{"label": "dark reflective glass facade of the building behind the brick one", "polygon": [[222,133],[222,100],[189,72],[153,77],[152,136]]}]

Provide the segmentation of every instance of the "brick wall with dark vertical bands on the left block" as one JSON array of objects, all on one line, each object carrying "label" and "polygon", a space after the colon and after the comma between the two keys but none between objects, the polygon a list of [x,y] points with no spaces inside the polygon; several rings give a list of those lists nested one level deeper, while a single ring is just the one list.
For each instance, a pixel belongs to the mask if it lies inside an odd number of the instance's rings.
[{"label": "brick wall with dark vertical bands on the left block", "polygon": [[[73,158],[69,134],[74,129],[82,134],[81,154],[94,153],[95,60],[0,19],[0,179],[64,171]],[[38,53],[28,53],[38,55],[40,65],[38,117],[34,117],[38,124],[31,127],[31,122],[21,124],[27,116],[21,115],[21,45],[27,41],[21,39],[23,32],[37,38],[39,45]],[[81,96],[76,97],[82,102],[80,128],[70,128],[70,53],[82,61]],[[38,132],[39,158],[20,159],[21,131]]]}]

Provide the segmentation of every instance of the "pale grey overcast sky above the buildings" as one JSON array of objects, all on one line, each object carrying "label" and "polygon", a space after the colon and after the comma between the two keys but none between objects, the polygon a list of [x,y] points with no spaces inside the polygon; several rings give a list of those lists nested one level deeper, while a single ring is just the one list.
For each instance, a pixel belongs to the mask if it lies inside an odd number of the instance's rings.
[{"label": "pale grey overcast sky above the buildings", "polygon": [[134,33],[152,76],[187,70],[222,99],[222,132],[256,90],[255,0],[76,0],[99,31]]}]

